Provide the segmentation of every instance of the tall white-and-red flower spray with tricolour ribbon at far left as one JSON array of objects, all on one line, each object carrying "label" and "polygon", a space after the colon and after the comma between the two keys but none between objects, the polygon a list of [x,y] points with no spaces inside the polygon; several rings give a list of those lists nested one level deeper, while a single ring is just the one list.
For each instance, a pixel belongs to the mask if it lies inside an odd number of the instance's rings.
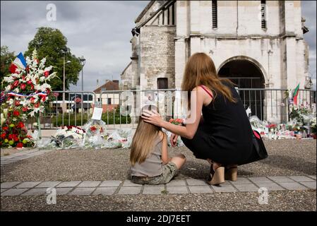
[{"label": "tall white-and-red flower spray with tricolour ribbon at far left", "polygon": [[25,119],[27,115],[36,117],[38,124],[44,105],[52,95],[51,85],[47,82],[56,76],[56,72],[50,73],[53,67],[45,66],[45,62],[45,58],[41,61],[37,59],[37,52],[34,50],[32,57],[26,57],[23,66],[13,61],[9,68],[11,74],[4,76],[2,81],[6,85],[6,104],[20,109],[25,114]]}]

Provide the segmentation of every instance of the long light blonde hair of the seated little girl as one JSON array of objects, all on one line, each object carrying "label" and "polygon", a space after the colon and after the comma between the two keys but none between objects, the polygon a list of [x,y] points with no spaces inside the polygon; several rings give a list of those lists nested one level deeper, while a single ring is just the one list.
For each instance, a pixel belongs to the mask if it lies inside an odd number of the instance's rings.
[{"label": "long light blonde hair of the seated little girl", "polygon": [[150,123],[143,121],[140,117],[138,121],[138,126],[136,127],[136,133],[134,133],[130,162],[131,165],[135,165],[136,162],[142,163],[151,153],[153,146],[155,145],[155,140],[159,136],[159,132],[162,128],[159,126],[154,126]]}]

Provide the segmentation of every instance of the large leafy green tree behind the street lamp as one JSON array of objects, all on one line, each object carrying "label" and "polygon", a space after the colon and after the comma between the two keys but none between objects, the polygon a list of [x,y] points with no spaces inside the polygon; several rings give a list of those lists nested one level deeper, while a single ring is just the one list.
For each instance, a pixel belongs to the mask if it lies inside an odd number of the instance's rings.
[{"label": "large leafy green tree behind the street lamp", "polygon": [[65,65],[65,88],[68,90],[69,85],[76,85],[79,72],[82,69],[78,57],[71,54],[71,49],[67,46],[67,39],[60,30],[55,28],[37,28],[37,33],[33,40],[28,44],[28,50],[24,56],[30,56],[33,49],[37,50],[39,59],[46,57],[47,65],[52,65],[52,71],[57,73],[56,78],[49,82],[52,90],[63,90],[63,69],[64,54],[65,61],[71,63]]}]

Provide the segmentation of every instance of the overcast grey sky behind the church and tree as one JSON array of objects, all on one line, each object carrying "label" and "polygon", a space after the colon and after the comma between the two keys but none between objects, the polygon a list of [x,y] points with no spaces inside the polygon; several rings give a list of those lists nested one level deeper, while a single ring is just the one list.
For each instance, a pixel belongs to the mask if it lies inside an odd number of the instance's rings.
[{"label": "overcast grey sky behind the church and tree", "polygon": [[[1,1],[1,46],[25,52],[36,28],[58,28],[68,47],[84,56],[84,90],[95,90],[97,79],[119,79],[131,57],[131,29],[149,1]],[[56,21],[47,20],[47,4],[56,5]],[[310,72],[316,84],[316,1],[302,1],[309,32]],[[78,86],[80,90],[81,72]]]}]

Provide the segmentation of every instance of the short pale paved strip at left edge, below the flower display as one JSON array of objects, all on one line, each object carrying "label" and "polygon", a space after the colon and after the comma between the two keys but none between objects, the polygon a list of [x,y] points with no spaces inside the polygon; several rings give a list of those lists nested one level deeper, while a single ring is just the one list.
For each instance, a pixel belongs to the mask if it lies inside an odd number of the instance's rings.
[{"label": "short pale paved strip at left edge, below the flower display", "polygon": [[50,150],[39,150],[38,148],[31,149],[31,150],[22,150],[20,153],[15,153],[12,155],[4,155],[1,156],[1,165],[6,165],[12,162],[17,162],[19,160],[25,160],[29,157],[34,157],[37,155],[42,155],[44,153],[49,153],[54,149]]}]

